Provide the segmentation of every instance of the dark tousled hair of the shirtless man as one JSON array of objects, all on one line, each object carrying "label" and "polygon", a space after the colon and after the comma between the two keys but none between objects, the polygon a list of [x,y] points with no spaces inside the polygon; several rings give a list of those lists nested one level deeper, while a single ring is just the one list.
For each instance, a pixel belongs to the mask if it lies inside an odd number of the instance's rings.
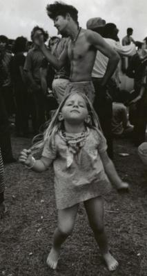
[{"label": "dark tousled hair of the shirtless man", "polygon": [[58,15],[66,17],[66,14],[69,13],[70,17],[72,17],[72,19],[78,24],[78,10],[71,5],[55,1],[55,3],[46,6],[46,11],[48,13],[48,17],[52,20],[55,20]]}]

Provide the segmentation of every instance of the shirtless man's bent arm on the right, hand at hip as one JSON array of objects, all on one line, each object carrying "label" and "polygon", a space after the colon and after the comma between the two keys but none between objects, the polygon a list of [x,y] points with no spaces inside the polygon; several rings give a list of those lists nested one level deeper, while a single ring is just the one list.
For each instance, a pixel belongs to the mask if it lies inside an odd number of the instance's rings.
[{"label": "shirtless man's bent arm on the right, hand at hip", "polygon": [[103,77],[103,81],[101,83],[101,86],[105,86],[107,81],[110,79],[110,77],[112,77],[113,73],[115,72],[120,57],[117,52],[113,50],[112,47],[108,45],[108,43],[106,43],[106,41],[101,37],[100,34],[88,30],[87,35],[89,43],[97,48],[97,50],[102,52],[102,54],[104,54],[106,57],[108,57],[108,65]]}]

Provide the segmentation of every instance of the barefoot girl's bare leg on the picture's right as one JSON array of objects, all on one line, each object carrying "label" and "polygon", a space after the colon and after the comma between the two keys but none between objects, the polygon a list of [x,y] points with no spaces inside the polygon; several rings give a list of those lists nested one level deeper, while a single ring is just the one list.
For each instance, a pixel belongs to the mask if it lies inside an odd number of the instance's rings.
[{"label": "barefoot girl's bare leg on the picture's right", "polygon": [[104,230],[104,203],[101,197],[95,197],[84,202],[90,227],[93,230],[95,239],[104,257],[108,270],[115,270],[118,262],[108,250],[108,240]]}]

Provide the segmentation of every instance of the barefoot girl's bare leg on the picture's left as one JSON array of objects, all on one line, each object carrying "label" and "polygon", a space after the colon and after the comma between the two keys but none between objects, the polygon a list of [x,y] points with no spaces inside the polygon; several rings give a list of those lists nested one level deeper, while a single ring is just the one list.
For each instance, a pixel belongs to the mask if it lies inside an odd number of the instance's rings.
[{"label": "barefoot girl's bare leg on the picture's left", "polygon": [[58,210],[58,226],[53,236],[52,249],[47,258],[47,264],[50,268],[57,268],[61,244],[63,244],[72,233],[77,217],[78,206],[79,205],[76,204],[70,208]]}]

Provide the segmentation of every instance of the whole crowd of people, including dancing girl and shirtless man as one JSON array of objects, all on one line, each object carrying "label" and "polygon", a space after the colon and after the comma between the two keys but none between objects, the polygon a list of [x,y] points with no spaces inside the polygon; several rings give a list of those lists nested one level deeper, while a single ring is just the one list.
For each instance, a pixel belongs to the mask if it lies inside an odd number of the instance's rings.
[{"label": "whole crowd of people, including dancing girl and shirtless man", "polygon": [[[48,41],[48,32],[35,26],[32,44],[17,37],[10,53],[8,38],[0,35],[0,214],[3,163],[16,161],[10,140],[14,117],[17,137],[30,137],[30,132],[43,137],[22,150],[19,161],[37,172],[54,164],[58,227],[48,265],[57,267],[61,244],[84,201],[101,254],[108,269],[115,270],[118,262],[108,250],[101,196],[110,182],[117,190],[128,190],[112,163],[113,137],[132,139],[140,156],[146,141],[147,37],[135,41],[133,28],[128,28],[121,43],[115,23],[101,17],[88,19],[85,30],[79,27],[77,9],[65,3],[50,4],[46,11],[60,36]],[[120,71],[134,79],[133,90],[121,89]],[[41,148],[36,160],[32,154]]]}]

